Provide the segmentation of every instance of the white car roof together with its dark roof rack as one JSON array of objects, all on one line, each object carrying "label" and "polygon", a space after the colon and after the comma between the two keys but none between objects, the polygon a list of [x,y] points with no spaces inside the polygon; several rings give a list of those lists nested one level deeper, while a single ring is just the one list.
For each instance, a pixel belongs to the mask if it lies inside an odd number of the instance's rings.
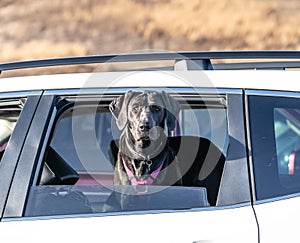
[{"label": "white car roof together with its dark roof rack", "polygon": [[[140,53],[69,57],[4,63],[0,64],[0,71],[74,64],[124,64],[165,60],[172,60],[173,64],[125,71],[122,68],[101,72],[95,69],[94,72],[89,73],[2,78],[0,79],[0,92],[112,87],[199,87],[300,91],[300,72],[298,71],[300,69],[288,70],[300,68],[300,51]],[[213,60],[217,62],[213,63]]]}]

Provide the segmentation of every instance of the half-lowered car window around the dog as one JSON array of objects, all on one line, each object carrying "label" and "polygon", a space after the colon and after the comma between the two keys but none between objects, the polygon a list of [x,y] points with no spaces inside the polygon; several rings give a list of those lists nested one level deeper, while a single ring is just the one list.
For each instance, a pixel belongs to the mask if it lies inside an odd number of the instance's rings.
[{"label": "half-lowered car window around the dog", "polygon": [[[142,193],[130,185],[114,185],[116,142],[121,131],[108,103],[63,99],[64,105],[57,105],[42,169],[30,189],[25,216],[215,206],[228,147],[225,97],[218,99],[217,104],[203,105],[195,98],[189,105],[182,105],[174,133],[167,134],[182,163],[185,185],[149,185]],[[194,175],[197,163],[207,158],[211,163],[207,175]],[[126,205],[120,207],[124,200]]]}]

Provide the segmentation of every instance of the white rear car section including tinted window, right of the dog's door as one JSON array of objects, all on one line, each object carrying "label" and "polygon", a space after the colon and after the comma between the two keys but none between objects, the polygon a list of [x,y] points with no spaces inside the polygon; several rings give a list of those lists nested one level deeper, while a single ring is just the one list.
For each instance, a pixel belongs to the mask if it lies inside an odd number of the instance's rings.
[{"label": "white rear car section including tinted window, right of the dog's door", "polygon": [[299,241],[299,98],[293,92],[247,92],[261,243]]}]

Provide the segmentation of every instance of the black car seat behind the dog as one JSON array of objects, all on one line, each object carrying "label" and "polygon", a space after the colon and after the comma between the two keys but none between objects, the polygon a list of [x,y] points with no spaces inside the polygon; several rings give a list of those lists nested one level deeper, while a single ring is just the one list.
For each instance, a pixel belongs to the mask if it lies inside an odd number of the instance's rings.
[{"label": "black car seat behind the dog", "polygon": [[[169,137],[182,171],[183,186],[205,187],[210,205],[216,205],[225,156],[210,140],[196,136]],[[117,160],[119,140],[110,143],[110,161]]]}]

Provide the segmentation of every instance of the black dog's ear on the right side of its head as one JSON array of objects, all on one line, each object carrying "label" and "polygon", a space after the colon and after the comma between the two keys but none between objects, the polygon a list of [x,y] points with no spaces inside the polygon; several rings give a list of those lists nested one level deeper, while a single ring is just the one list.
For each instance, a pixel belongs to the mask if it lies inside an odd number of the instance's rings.
[{"label": "black dog's ear on the right side of its head", "polygon": [[174,130],[176,124],[176,117],[178,116],[180,111],[180,104],[177,100],[172,98],[165,91],[162,91],[161,93],[166,109],[166,124],[169,130]]}]

